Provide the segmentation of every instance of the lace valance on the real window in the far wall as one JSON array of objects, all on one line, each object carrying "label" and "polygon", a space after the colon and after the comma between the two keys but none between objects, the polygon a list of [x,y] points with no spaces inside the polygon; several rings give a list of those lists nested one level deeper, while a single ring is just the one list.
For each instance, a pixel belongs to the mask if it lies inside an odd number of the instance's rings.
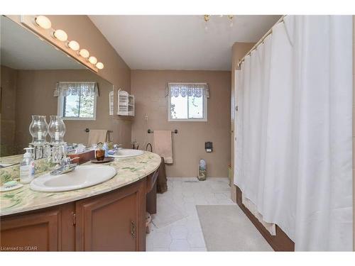
[{"label": "lace valance on the real window in the far wall", "polygon": [[168,83],[168,95],[197,98],[206,95],[209,98],[209,88],[207,83]]}]

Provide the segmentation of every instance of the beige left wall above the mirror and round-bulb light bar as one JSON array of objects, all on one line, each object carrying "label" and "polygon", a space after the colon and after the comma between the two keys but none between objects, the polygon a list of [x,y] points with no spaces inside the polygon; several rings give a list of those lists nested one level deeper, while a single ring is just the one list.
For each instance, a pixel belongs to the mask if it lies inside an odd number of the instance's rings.
[{"label": "beige left wall above the mirror and round-bulb light bar", "polygon": [[[16,23],[20,23],[20,16],[8,16]],[[58,15],[48,16],[53,28],[64,30],[70,39],[77,40],[80,47],[87,48],[90,54],[95,55],[104,63],[104,69],[99,70],[99,76],[114,84],[115,89],[124,89],[130,92],[131,70],[119,54],[110,45],[99,29],[94,26],[88,16],[84,15]],[[21,24],[21,23],[20,23]],[[115,95],[116,98],[116,95]],[[131,121],[119,118],[114,121],[114,135],[124,147],[131,146]]]}]

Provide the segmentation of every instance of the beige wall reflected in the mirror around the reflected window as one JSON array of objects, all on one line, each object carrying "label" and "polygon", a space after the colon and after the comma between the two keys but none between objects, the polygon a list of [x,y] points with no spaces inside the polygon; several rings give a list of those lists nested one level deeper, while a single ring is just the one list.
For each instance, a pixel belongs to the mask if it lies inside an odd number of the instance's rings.
[{"label": "beige wall reflected in the mirror around the reflected window", "polygon": [[[109,116],[109,92],[112,84],[89,70],[18,70],[16,94],[16,143],[22,148],[31,142],[28,126],[31,123],[31,114],[47,116],[58,113],[58,97],[53,96],[55,84],[60,81],[94,81],[99,83],[99,96],[97,97],[97,117],[95,121],[65,120],[67,132],[65,141],[68,143],[87,143],[88,133],[85,128],[108,129],[114,131],[111,140],[127,138],[126,131],[121,131],[117,116]],[[128,125],[130,126],[130,125]],[[48,136],[49,140],[49,136]]]}]

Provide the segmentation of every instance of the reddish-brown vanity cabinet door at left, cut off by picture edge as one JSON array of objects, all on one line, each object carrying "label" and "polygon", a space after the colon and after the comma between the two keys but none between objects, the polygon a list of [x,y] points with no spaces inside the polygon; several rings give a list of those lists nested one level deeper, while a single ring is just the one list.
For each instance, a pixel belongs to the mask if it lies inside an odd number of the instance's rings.
[{"label": "reddish-brown vanity cabinet door at left, cut off by picture edge", "polygon": [[1,250],[59,251],[72,250],[74,204],[1,217]]}]

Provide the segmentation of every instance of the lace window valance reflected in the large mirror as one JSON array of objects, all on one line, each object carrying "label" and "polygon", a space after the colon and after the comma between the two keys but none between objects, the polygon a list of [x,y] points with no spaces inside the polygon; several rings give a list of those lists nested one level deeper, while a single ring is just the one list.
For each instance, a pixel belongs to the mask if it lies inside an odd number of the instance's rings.
[{"label": "lace window valance reflected in the large mirror", "polygon": [[99,84],[97,82],[57,82],[54,96],[99,96]]}]

